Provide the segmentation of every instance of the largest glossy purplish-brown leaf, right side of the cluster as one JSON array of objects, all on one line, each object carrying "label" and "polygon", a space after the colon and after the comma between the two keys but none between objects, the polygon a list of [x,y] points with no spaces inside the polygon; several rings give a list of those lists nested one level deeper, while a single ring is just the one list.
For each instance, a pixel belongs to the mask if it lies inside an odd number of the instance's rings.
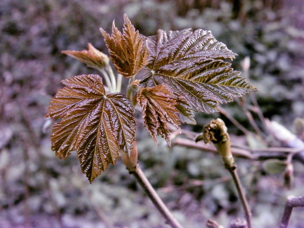
[{"label": "largest glossy purplish-brown leaf, right side of the cluster", "polygon": [[147,37],[147,48],[150,72],[140,79],[141,86],[166,85],[179,103],[183,123],[195,124],[191,110],[214,112],[218,103],[257,91],[223,61],[236,54],[210,31],[159,30],[157,35]]}]

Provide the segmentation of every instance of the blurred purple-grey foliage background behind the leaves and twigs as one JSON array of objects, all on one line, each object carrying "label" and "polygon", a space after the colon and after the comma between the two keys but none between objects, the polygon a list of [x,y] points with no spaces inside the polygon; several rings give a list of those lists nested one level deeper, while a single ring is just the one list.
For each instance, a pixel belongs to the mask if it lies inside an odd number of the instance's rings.
[{"label": "blurred purple-grey foliage background behind the leaves and twigs", "polygon": [[[121,28],[123,13],[146,36],[157,29],[211,30],[238,54],[235,69],[242,71],[250,58],[243,77],[259,88],[264,116],[292,130],[304,110],[303,12],[302,0],[0,1],[0,227],[167,227],[121,161],[89,185],[75,154],[59,160],[50,150],[52,121],[44,115],[60,80],[97,73],[61,50],[83,50],[90,42],[107,53],[99,27],[109,32],[115,19]],[[236,102],[223,107],[252,130]],[[198,125],[185,128],[199,131],[218,116],[241,135],[220,114],[198,113]],[[155,147],[138,125],[140,163],[182,225],[205,227],[209,218],[227,224],[243,216],[218,157],[178,146],[169,150],[165,143]],[[286,195],[303,195],[303,165],[294,164],[294,188],[288,190],[282,174],[269,175],[261,162],[237,163],[254,226],[277,226]],[[291,227],[303,227],[303,217],[296,209]]]}]

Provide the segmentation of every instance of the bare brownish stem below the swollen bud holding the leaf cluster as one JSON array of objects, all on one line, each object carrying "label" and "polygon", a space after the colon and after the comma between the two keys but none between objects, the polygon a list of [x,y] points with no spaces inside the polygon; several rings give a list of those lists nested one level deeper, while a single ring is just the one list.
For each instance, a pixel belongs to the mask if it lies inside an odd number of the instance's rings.
[{"label": "bare brownish stem below the swollen bud holding the leaf cluster", "polygon": [[173,217],[167,206],[161,200],[161,198],[157,195],[157,192],[154,190],[145,174],[141,170],[139,164],[136,165],[136,169],[133,172],[130,172],[134,175],[137,182],[143,188],[143,190],[147,193],[154,206],[158,209],[161,215],[166,219],[166,223],[168,223],[172,228],[182,228],[181,224]]}]

